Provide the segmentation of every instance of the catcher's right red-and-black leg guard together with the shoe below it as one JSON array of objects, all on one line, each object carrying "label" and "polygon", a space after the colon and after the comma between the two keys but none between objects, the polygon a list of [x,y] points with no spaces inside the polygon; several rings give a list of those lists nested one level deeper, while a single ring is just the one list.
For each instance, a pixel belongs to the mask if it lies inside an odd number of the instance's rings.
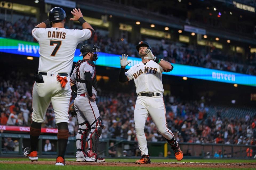
[{"label": "catcher's right red-and-black leg guard together with the shoe below it", "polygon": [[101,136],[102,129],[104,124],[101,117],[98,117],[97,120],[91,125],[91,132],[88,139],[89,149],[87,152],[86,161],[88,162],[105,162],[105,158],[97,156],[97,147],[99,143],[99,137]]}]

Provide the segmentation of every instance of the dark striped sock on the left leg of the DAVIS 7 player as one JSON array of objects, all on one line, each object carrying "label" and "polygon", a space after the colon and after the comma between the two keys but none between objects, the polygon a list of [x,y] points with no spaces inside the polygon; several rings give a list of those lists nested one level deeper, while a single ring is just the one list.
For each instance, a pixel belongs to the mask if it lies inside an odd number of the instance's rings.
[{"label": "dark striped sock on the left leg of the DAVIS 7 player", "polygon": [[37,150],[37,144],[38,144],[38,138],[41,134],[41,125],[42,123],[37,123],[32,121],[32,124],[30,126],[30,151],[36,151]]}]

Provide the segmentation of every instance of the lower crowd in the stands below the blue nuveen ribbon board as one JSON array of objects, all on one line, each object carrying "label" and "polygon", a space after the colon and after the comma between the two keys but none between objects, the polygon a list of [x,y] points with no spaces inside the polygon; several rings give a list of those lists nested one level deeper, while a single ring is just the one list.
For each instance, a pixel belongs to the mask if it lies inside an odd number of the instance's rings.
[{"label": "lower crowd in the stands below the blue nuveen ribbon board", "polygon": [[[103,80],[99,80],[98,84],[97,105],[105,124],[101,138],[136,140],[133,111],[137,95],[116,89],[103,90],[101,87],[107,88]],[[22,72],[11,72],[7,80],[0,77],[1,125],[30,126],[32,85],[32,78]],[[73,99],[74,97],[73,94]],[[252,117],[244,115],[244,118],[237,119],[223,117],[222,111],[216,110],[215,115],[207,116],[209,107],[212,107],[207,98],[181,101],[166,95],[164,100],[167,126],[173,131],[178,142],[256,145],[256,114]],[[52,105],[47,109],[42,126],[56,127]],[[70,116],[70,135],[75,136],[77,130],[77,117]],[[148,141],[164,141],[150,116],[146,121],[145,134]]]}]

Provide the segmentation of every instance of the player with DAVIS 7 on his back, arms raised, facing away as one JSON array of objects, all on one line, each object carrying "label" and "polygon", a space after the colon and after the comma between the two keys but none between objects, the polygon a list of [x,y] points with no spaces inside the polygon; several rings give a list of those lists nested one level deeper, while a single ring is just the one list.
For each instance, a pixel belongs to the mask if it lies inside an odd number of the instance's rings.
[{"label": "player with DAVIS 7 on his back, arms raised, facing away", "polygon": [[[38,24],[32,35],[39,43],[38,74],[34,75],[33,113],[30,126],[30,148],[24,149],[24,155],[31,161],[37,161],[38,137],[41,124],[45,120],[50,102],[53,105],[55,120],[58,126],[58,157],[55,165],[65,165],[64,156],[69,138],[69,103],[71,97],[70,77],[73,58],[79,42],[94,35],[94,29],[83,19],[80,9],[73,9],[74,18],[83,29],[66,29],[65,11],[60,7],[52,8],[49,19]],[[51,28],[46,28],[47,25]]]}]

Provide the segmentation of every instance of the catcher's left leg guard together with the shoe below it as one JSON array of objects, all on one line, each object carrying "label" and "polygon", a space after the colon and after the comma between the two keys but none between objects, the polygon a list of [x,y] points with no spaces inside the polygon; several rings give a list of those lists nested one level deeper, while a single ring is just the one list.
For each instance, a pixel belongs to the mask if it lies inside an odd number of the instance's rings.
[{"label": "catcher's left leg guard together with the shoe below it", "polygon": [[88,121],[83,122],[79,125],[79,130],[77,133],[77,153],[76,158],[77,162],[84,162],[86,159],[86,152],[85,152],[85,145],[86,145],[86,138],[90,132],[90,125]]}]

